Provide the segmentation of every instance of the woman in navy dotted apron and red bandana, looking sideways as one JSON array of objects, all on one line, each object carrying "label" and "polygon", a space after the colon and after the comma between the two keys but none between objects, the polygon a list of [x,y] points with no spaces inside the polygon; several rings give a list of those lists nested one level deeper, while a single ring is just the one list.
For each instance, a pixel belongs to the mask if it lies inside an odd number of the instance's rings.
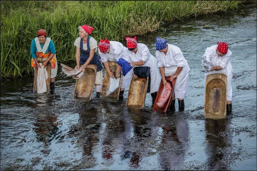
[{"label": "woman in navy dotted apron and red bandana, looking sideways", "polygon": [[88,25],[82,25],[79,26],[78,29],[79,37],[74,42],[74,45],[76,46],[77,63],[75,69],[80,69],[84,72],[88,64],[97,65],[95,90],[97,96],[100,97],[102,84],[102,62],[97,54],[97,41],[93,37],[89,36],[94,28]]}]

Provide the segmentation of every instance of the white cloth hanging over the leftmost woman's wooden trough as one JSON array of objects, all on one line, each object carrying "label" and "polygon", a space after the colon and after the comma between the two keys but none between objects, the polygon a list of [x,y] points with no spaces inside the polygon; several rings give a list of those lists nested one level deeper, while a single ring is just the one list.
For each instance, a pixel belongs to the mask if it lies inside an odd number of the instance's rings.
[{"label": "white cloth hanging over the leftmost woman's wooden trough", "polygon": [[41,68],[38,68],[37,70],[37,93],[45,93],[47,91],[47,87],[46,87],[46,80],[48,77],[46,68],[42,67],[42,63],[39,63],[39,65],[41,66]]}]

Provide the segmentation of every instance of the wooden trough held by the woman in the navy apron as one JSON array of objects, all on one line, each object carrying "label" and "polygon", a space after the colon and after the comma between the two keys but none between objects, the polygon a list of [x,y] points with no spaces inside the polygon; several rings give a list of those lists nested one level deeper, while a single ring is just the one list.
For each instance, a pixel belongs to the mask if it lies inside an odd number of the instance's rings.
[{"label": "wooden trough held by the woman in the navy apron", "polygon": [[73,95],[74,98],[80,97],[91,100],[95,84],[96,71],[96,65],[88,64],[83,75],[76,81]]}]

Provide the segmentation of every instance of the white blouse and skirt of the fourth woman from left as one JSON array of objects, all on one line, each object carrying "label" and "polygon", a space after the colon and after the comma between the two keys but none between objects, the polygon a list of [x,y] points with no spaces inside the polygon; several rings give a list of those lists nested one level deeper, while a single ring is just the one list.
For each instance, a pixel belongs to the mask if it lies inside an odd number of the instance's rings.
[{"label": "white blouse and skirt of the fourth woman from left", "polygon": [[142,66],[135,67],[150,67],[151,74],[151,83],[150,83],[150,93],[154,93],[158,91],[160,85],[160,76],[157,67],[157,59],[151,55],[148,47],[145,44],[138,43],[137,44],[137,52],[136,54],[132,51],[129,51],[126,48],[126,52],[123,53],[124,59],[130,58],[131,62],[139,62],[144,61],[145,64]]}]

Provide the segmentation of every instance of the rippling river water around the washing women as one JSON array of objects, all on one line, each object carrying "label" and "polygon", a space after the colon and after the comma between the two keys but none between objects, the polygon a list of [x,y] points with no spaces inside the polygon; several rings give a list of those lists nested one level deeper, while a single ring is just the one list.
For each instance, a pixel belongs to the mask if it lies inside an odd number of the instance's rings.
[{"label": "rippling river water around the washing women", "polygon": [[[73,98],[75,80],[59,65],[54,95],[33,95],[33,76],[1,84],[1,170],[256,170],[256,4],[189,18],[138,37],[155,56],[156,35],[178,46],[190,70],[185,111],[128,109],[124,100]],[[204,25],[214,29],[203,29]],[[232,54],[233,112],[203,116],[207,47],[225,41]],[[125,45],[125,42],[123,42]],[[58,57],[57,57],[58,58]]]}]

